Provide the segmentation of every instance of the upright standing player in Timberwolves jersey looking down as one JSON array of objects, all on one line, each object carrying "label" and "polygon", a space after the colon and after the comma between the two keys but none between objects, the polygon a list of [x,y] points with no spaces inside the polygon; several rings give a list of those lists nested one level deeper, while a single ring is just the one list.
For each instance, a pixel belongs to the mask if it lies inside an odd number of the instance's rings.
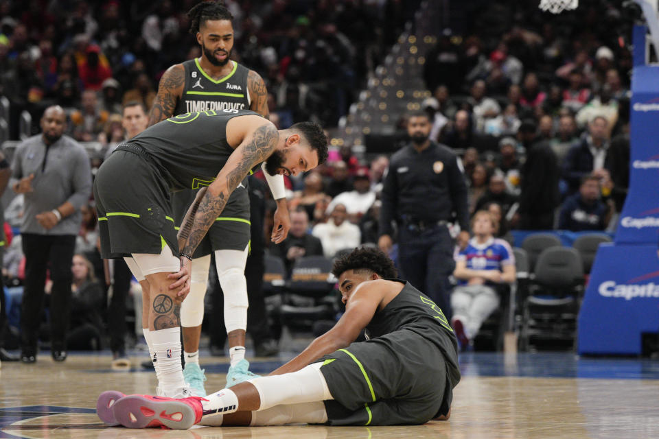
[{"label": "upright standing player in Timberwolves jersey looking down", "polygon": [[[202,56],[167,69],[151,109],[150,125],[174,115],[206,110],[235,112],[251,109],[267,117],[268,93],[262,78],[255,71],[230,60],[233,50],[233,16],[229,10],[220,1],[205,1],[192,8],[188,16],[191,21],[190,32],[196,36],[202,48]],[[265,169],[264,174],[273,198],[277,200],[272,239],[279,243],[286,238],[290,227],[284,178],[270,176]],[[194,189],[172,195],[177,225],[181,224],[187,208],[192,204],[196,189],[210,182],[199,181]],[[192,263],[192,290],[181,306],[184,375],[201,396],[206,394],[205,376],[199,367],[198,349],[211,252],[215,254],[218,277],[224,292],[224,325],[227,328],[231,356],[227,385],[255,377],[248,371],[249,364],[244,359],[248,307],[244,271],[250,239],[247,185],[246,179],[238,185],[222,215],[216,219],[197,248]],[[148,329],[144,328],[144,333],[149,342]]]}]

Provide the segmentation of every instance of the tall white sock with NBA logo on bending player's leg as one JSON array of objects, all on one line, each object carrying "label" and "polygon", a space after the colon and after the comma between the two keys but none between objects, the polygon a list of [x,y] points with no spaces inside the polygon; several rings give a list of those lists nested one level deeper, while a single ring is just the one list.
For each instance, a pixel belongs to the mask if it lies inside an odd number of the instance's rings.
[{"label": "tall white sock with NBA logo on bending player's leg", "polygon": [[163,392],[185,387],[181,368],[181,327],[160,329],[149,333],[157,360],[156,375]]}]

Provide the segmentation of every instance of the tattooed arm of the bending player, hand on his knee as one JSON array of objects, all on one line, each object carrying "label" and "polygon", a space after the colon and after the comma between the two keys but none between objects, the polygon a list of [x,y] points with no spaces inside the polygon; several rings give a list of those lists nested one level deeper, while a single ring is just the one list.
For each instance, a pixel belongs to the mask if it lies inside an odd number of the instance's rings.
[{"label": "tattooed arm of the bending player, hand on his knee", "polygon": [[256,128],[236,147],[199,203],[185,244],[181,247],[182,253],[194,253],[211,224],[226,206],[231,192],[238,187],[250,169],[265,161],[273,153],[278,139],[277,128],[268,122]]}]

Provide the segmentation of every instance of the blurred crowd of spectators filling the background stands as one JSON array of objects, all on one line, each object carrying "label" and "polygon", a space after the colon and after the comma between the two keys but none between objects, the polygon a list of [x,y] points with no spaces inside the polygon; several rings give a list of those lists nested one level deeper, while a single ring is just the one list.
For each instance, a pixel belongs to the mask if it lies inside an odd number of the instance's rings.
[{"label": "blurred crowd of spectators filling the background stands", "polygon": [[[12,137],[22,110],[41,115],[60,104],[74,139],[122,141],[122,104],[150,108],[164,69],[200,55],[187,34],[185,11],[194,3],[0,1],[0,95],[10,100]],[[307,119],[336,126],[417,7],[393,0],[226,3],[235,16],[233,58],[263,76],[280,128]],[[625,29],[620,8],[586,3],[548,16],[534,2],[474,3],[483,7],[458,7],[471,18],[463,32],[446,29],[427,54],[432,97],[421,105],[431,139],[460,156],[470,213],[492,213],[494,235],[508,240],[514,228],[611,229],[629,178],[630,32],[611,32]],[[389,158],[366,158],[343,145],[325,165],[286,178],[292,228],[269,251],[289,270],[304,255],[332,257],[378,242]],[[102,155],[92,160],[97,167]],[[14,204],[5,216],[18,226],[20,198]],[[84,209],[76,252],[89,255],[96,251],[93,204]],[[8,250],[5,276],[20,278],[20,244]],[[82,273],[83,265],[78,259],[74,268]],[[80,289],[93,281],[76,274]]]}]

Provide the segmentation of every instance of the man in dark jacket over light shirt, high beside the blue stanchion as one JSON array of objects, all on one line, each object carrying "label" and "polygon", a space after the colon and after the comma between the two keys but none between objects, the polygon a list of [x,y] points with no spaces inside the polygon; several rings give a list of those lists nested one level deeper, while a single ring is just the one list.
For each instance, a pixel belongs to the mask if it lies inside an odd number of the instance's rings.
[{"label": "man in dark jacket over light shirt, high beside the blue stanchion", "polygon": [[581,178],[590,173],[609,178],[607,152],[609,148],[608,121],[597,116],[588,124],[588,135],[568,151],[563,164],[563,178],[568,182],[569,193],[575,193]]}]

